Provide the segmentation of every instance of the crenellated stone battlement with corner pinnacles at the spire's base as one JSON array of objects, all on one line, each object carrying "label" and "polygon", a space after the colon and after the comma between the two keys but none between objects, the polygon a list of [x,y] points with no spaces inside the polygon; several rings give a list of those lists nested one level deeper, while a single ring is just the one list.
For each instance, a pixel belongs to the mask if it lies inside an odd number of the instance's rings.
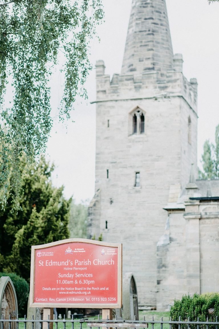
[{"label": "crenellated stone battlement with corner pinnacles at the spire's base", "polygon": [[181,96],[197,112],[197,80],[190,79],[188,82],[184,77],[181,54],[174,56],[173,63],[173,69],[168,70],[163,76],[160,72],[151,70],[143,71],[138,75],[114,74],[110,81],[110,76],[105,74],[104,62],[98,61],[96,63],[97,99],[95,102]]}]

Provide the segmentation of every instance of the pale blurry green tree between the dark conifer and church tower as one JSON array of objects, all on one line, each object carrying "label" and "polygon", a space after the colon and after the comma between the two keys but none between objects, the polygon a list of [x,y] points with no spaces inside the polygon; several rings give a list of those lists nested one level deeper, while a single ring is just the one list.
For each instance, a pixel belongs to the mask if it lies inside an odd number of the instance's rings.
[{"label": "pale blurry green tree between the dark conifer and church tower", "polygon": [[75,200],[72,200],[70,205],[69,214],[69,231],[70,238],[82,238],[87,237],[87,211],[88,208],[85,204],[75,204]]}]

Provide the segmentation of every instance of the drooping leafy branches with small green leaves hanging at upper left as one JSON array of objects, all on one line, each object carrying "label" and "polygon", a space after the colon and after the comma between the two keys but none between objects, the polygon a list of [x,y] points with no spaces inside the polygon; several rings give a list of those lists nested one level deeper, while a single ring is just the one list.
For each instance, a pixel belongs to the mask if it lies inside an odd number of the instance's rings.
[{"label": "drooping leafy branches with small green leaves hanging at upper left", "polygon": [[[0,0],[0,202],[8,191],[19,208],[20,162],[28,163],[45,150],[52,127],[50,88],[52,68],[63,57],[65,77],[60,119],[70,117],[76,95],[91,65],[89,40],[103,17],[101,0]],[[11,108],[4,108],[12,81]],[[9,177],[11,183],[9,185]]]}]

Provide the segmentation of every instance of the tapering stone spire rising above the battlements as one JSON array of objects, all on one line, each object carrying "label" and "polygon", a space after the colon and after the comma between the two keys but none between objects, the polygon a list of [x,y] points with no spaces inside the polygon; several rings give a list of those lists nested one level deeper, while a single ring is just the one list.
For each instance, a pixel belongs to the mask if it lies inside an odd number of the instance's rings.
[{"label": "tapering stone spire rising above the battlements", "polygon": [[165,72],[173,50],[165,0],[132,0],[122,74]]}]

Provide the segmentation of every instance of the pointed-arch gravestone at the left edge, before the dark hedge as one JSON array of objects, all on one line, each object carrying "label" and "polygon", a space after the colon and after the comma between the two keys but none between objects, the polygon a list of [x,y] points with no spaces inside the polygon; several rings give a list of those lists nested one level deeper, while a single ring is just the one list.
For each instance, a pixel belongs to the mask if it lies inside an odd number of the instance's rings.
[{"label": "pointed-arch gravestone at the left edge, before the dark hedge", "polygon": [[[16,319],[18,314],[17,296],[14,285],[9,276],[2,276],[0,278],[0,318],[3,319]],[[9,329],[10,323],[3,322],[3,328]],[[16,328],[16,323],[11,323],[11,329]]]}]

